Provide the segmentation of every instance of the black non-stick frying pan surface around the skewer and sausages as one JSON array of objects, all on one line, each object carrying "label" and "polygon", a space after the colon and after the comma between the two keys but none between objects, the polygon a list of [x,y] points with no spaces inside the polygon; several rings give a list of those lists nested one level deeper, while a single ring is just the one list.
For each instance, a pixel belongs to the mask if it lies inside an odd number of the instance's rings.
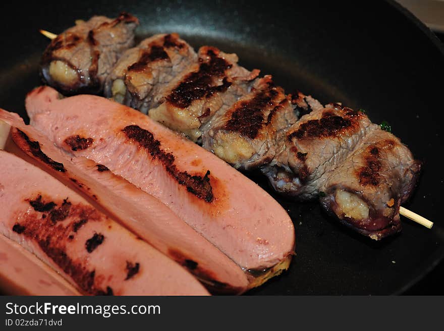
[{"label": "black non-stick frying pan surface around the skewer and sausages", "polygon": [[373,122],[390,123],[424,161],[405,206],[434,227],[402,217],[402,233],[380,242],[340,226],[317,203],[286,200],[260,175],[247,174],[288,210],[297,252],[289,271],[249,294],[399,294],[438,264],[444,255],[444,50],[411,14],[376,1],[16,2],[2,10],[0,106],[27,120],[24,98],[40,84],[38,62],[49,42],[38,29],[59,33],[75,19],[120,11],[140,19],[140,38],[178,32],[196,48],[236,52],[242,66],[273,75],[288,92],[363,108]]}]

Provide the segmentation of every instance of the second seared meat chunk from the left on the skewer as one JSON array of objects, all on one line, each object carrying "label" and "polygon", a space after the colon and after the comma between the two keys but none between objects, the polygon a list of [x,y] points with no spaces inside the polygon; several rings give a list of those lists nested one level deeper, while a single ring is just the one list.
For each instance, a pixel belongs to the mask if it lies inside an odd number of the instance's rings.
[{"label": "second seared meat chunk from the left on the skewer", "polygon": [[106,79],[104,95],[146,114],[159,105],[159,91],[196,62],[196,52],[178,34],[154,35],[123,53]]}]

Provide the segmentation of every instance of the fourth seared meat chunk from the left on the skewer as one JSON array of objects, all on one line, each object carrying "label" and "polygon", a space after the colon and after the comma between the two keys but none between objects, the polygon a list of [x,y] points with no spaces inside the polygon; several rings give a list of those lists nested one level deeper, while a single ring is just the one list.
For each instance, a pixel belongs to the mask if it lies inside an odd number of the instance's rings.
[{"label": "fourth seared meat chunk from the left on the skewer", "polygon": [[202,147],[236,169],[252,169],[273,158],[278,135],[296,120],[291,96],[265,76],[202,127]]}]

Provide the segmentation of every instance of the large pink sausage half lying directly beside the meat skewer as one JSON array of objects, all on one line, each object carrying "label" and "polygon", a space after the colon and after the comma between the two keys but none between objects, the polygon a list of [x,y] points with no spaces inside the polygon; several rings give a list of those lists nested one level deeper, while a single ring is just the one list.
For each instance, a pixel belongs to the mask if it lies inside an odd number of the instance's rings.
[{"label": "large pink sausage half lying directly beside the meat skewer", "polygon": [[[250,286],[288,267],[295,235],[287,212],[214,154],[98,96],[58,99],[57,91],[40,87],[28,94],[26,108],[31,124],[59,148],[157,197],[249,274],[262,270]],[[66,139],[77,135],[93,143],[73,150]]]}]

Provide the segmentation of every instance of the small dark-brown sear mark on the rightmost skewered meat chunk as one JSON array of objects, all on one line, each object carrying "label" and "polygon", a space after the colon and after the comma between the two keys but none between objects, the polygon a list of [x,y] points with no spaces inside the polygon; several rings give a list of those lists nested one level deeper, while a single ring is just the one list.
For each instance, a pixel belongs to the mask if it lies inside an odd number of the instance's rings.
[{"label": "small dark-brown sear mark on the rightmost skewered meat chunk", "polygon": [[364,167],[361,167],[357,171],[359,177],[359,184],[362,186],[377,186],[380,183],[381,175],[379,171],[382,168],[381,162],[381,150],[392,149],[396,145],[396,142],[391,139],[378,141],[375,144],[368,146],[363,154],[365,160]]}]

